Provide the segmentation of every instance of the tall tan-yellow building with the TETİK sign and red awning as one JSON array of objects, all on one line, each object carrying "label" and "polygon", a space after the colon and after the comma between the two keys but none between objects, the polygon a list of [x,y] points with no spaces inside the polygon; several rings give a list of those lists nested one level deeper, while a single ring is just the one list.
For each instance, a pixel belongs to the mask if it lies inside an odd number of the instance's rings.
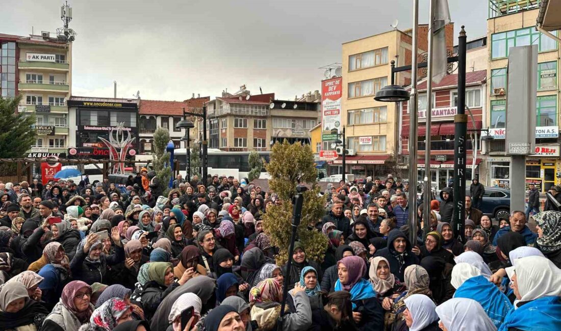
[{"label": "tall tan-yellow building with the TET\u0130K sign and red awning", "polygon": [[[452,48],[453,24],[445,27],[447,45]],[[342,115],[348,157],[346,173],[357,177],[384,174],[384,163],[398,154],[398,109],[396,103],[379,102],[374,96],[391,80],[390,60],[396,66],[411,64],[411,30],[381,34],[343,43]],[[419,54],[427,49],[427,26],[418,29]],[[410,72],[396,74],[397,85],[409,85]],[[341,173],[342,158],[330,162],[329,173]]]}]

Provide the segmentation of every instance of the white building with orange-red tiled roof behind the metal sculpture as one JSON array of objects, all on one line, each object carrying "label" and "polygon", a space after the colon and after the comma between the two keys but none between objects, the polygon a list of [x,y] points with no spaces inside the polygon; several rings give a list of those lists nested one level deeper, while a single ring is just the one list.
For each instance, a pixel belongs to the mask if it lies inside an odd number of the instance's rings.
[{"label": "white building with orange-red tiled roof behind the metal sculpture", "polygon": [[[185,101],[162,101],[162,100],[140,100],[139,105],[139,152],[140,154],[151,154],[153,152],[154,131],[158,127],[169,130],[169,137],[172,139],[176,148],[186,148],[187,143],[181,142],[185,136],[185,129],[176,129],[177,123],[185,118],[183,110],[191,113],[201,113],[204,102],[209,101],[210,97],[195,97]],[[187,116],[194,123],[199,118]],[[189,132],[190,144],[197,140],[197,125]]]}]

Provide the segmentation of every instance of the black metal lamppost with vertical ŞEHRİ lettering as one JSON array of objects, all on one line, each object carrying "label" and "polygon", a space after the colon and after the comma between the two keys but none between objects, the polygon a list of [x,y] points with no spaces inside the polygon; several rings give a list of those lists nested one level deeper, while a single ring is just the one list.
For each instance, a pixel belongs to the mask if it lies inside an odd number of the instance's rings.
[{"label": "black metal lamppost with vertical \u015eEHR\u0130 lettering", "polygon": [[[458,37],[458,114],[454,116],[454,213],[452,229],[454,236],[466,242],[464,226],[466,223],[466,31]],[[472,169],[473,171],[473,169]]]}]

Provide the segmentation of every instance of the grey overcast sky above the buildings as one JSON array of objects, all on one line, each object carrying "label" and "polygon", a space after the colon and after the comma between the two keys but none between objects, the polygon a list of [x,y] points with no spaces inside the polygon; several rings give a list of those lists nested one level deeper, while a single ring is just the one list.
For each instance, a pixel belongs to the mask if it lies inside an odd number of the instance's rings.
[{"label": "grey overcast sky above the buildings", "polygon": [[[0,0],[0,32],[29,35],[62,26],[59,0]],[[252,94],[293,99],[320,89],[341,62],[341,44],[411,27],[409,0],[71,0],[77,32],[72,94],[184,100],[246,84]],[[428,0],[420,1],[426,23]],[[486,34],[488,2],[449,1],[457,36]]]}]

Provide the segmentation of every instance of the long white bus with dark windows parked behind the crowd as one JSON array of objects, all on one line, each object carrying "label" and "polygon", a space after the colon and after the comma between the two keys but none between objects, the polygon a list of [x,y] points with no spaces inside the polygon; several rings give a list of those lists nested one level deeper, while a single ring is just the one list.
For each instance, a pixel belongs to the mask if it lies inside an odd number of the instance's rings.
[{"label": "long white bus with dark windows parked behind the crowd", "polygon": [[[225,152],[215,148],[209,148],[207,155],[208,174],[234,176],[234,178],[238,180],[247,177],[247,173],[251,170],[249,162],[247,162],[249,153],[250,152]],[[265,160],[265,162],[269,162],[271,152],[257,153],[259,153],[259,156]],[[180,164],[180,174],[183,178],[186,178],[186,149],[177,148],[174,151],[174,158]],[[266,173],[265,169],[261,170],[259,178],[269,179],[269,174]]]}]

